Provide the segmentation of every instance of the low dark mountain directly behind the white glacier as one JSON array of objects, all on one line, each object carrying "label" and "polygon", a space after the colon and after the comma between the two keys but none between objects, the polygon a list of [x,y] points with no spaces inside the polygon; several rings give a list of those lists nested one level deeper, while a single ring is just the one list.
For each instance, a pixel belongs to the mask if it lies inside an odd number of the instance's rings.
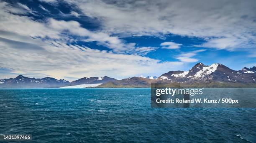
[{"label": "low dark mountain directly behind the white glacier", "polygon": [[109,81],[116,81],[117,79],[103,76],[103,77],[84,77],[70,82],[69,86],[80,85],[80,84],[103,84]]}]

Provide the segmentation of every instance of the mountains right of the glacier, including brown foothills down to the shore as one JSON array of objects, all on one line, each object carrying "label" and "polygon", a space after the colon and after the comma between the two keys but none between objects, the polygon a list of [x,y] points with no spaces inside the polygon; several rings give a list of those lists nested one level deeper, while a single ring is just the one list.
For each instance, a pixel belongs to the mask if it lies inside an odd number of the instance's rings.
[{"label": "mountains right of the glacier, including brown foothills down to the shore", "polygon": [[143,76],[111,81],[97,87],[130,88],[150,87],[152,82],[172,84],[179,83],[184,87],[256,87],[256,67],[235,71],[223,64],[197,63],[189,71],[170,71],[158,78]]}]

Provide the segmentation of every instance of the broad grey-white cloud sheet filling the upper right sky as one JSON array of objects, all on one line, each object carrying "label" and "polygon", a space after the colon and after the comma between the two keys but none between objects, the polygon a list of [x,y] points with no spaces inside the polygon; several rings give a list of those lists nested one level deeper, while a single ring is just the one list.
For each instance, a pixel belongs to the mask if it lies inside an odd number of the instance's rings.
[{"label": "broad grey-white cloud sheet filling the upper right sky", "polygon": [[172,33],[200,37],[206,40],[206,46],[218,49],[256,46],[255,0],[67,2],[77,5],[84,15],[102,20],[103,30],[115,34],[152,36]]}]

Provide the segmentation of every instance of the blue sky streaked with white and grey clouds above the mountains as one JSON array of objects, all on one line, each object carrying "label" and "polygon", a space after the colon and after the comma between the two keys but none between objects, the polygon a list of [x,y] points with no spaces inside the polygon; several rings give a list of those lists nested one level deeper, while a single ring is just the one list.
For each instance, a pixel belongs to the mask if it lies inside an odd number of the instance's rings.
[{"label": "blue sky streaked with white and grey clouds above the mountains", "polygon": [[256,65],[255,0],[0,0],[0,79]]}]

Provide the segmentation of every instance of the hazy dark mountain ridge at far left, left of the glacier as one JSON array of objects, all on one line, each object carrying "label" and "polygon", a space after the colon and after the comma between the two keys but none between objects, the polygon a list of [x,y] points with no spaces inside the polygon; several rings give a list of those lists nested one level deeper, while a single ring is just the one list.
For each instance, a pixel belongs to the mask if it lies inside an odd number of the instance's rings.
[{"label": "hazy dark mountain ridge at far left, left of the glacier", "polygon": [[69,84],[69,81],[64,79],[57,80],[52,77],[35,79],[19,75],[14,79],[0,79],[0,88],[54,88],[67,84]]}]

